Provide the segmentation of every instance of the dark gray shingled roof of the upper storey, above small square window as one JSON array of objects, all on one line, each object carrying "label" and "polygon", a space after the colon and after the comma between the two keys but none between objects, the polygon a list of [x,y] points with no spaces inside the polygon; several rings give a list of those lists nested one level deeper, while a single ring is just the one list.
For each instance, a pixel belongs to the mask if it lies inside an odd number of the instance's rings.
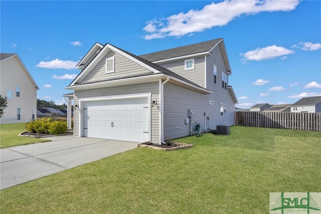
[{"label": "dark gray shingled roof of the upper storey, above small square window", "polygon": [[222,38],[200,42],[192,45],[172,48],[164,51],[157,51],[149,54],[143,54],[139,57],[146,59],[150,62],[169,59],[174,57],[186,56],[191,54],[203,53],[211,50]]}]

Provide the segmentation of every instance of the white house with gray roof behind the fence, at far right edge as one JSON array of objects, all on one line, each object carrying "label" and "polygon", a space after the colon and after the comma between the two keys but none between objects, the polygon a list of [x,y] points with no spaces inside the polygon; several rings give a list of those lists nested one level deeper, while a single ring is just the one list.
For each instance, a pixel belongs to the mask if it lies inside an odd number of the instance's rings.
[{"label": "white house with gray roof behind the fence, at far right edge", "polygon": [[304,97],[291,105],[291,112],[321,113],[321,96]]}]

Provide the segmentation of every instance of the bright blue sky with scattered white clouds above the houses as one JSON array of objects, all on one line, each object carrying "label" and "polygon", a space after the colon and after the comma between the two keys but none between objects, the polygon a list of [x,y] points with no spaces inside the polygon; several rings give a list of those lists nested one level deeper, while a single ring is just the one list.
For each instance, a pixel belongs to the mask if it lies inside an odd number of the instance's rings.
[{"label": "bright blue sky with scattered white clouds above the houses", "polygon": [[135,55],[223,37],[239,108],[321,95],[321,1],[1,1],[1,52],[62,104],[95,42]]}]

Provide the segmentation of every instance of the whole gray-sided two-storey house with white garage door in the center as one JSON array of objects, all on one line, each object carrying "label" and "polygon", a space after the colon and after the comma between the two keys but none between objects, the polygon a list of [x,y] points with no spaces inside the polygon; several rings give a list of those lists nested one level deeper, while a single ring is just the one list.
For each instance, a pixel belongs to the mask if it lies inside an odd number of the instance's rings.
[{"label": "whole gray-sided two-storey house with white garage door in the center", "polygon": [[234,125],[222,38],[141,56],[96,43],[77,67],[66,87],[75,136],[160,144],[194,134],[198,123],[204,131]]}]

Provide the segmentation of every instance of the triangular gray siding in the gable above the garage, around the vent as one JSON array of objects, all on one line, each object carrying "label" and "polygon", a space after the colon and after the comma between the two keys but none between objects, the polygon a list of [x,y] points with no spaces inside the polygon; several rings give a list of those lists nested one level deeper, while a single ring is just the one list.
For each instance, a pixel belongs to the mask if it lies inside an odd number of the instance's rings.
[{"label": "triangular gray siding in the gable above the garage, around the vent", "polygon": [[[115,57],[115,72],[106,73],[106,58]],[[118,53],[109,51],[97,65],[81,80],[81,82],[95,82],[113,78],[121,78],[129,75],[139,75],[150,71],[136,64],[135,62],[121,56]]]}]

